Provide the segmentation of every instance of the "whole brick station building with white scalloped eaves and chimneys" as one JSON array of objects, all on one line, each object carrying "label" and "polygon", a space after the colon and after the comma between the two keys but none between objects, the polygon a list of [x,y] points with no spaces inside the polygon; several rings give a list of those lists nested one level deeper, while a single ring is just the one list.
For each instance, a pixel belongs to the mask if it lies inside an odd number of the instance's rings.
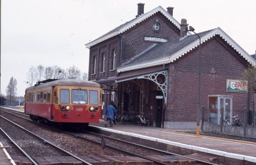
[{"label": "whole brick station building with white scalloped eaves and chimneys", "polygon": [[195,128],[201,115],[214,124],[224,114],[242,117],[253,92],[241,77],[255,60],[221,28],[189,32],[173,9],[144,13],[139,3],[136,18],[86,44],[88,79],[104,88],[103,113],[114,101],[119,114],[145,114],[150,126],[168,129]]}]

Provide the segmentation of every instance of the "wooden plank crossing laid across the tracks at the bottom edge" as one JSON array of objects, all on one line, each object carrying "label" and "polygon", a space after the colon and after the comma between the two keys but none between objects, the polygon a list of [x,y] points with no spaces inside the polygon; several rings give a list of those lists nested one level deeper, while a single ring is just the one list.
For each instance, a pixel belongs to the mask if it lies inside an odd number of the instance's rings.
[{"label": "wooden plank crossing laid across the tracks at the bottom edge", "polygon": [[[186,155],[191,158],[197,158],[199,160],[203,160],[205,162],[215,162],[218,161],[218,158],[213,156],[205,156],[203,154],[191,154]],[[167,164],[200,164],[200,162],[197,162],[196,160],[191,160],[188,158],[183,158],[180,156],[162,156],[162,155],[152,155],[147,156],[148,158],[152,158],[154,160],[158,160],[160,162],[164,162]],[[13,160],[18,165],[32,165],[32,162],[28,160],[26,157],[22,156],[12,156]],[[44,157],[33,157],[34,160],[38,164],[76,164],[76,165],[82,165],[82,162],[77,160],[76,158],[73,158],[71,156],[44,156]],[[148,164],[153,165],[154,162],[150,160],[146,160],[144,158],[140,158],[137,156],[80,156],[83,160],[86,162],[90,162],[91,164],[126,164],[126,165],[134,165],[134,164]]]}]

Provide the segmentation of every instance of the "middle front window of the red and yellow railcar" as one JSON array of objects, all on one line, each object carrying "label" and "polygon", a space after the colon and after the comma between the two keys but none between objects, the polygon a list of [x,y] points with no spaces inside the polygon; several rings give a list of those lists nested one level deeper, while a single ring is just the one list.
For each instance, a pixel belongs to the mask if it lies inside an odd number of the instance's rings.
[{"label": "middle front window of the red and yellow railcar", "polygon": [[72,103],[78,105],[86,105],[87,104],[87,91],[81,89],[73,89],[72,90]]}]

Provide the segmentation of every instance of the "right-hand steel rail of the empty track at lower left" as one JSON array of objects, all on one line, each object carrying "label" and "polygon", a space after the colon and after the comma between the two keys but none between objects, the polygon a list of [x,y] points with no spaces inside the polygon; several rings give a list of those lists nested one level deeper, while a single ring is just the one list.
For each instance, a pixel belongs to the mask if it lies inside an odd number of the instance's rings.
[{"label": "right-hand steel rail of the empty track at lower left", "polygon": [[82,158],[80,158],[79,156],[76,156],[75,154],[69,153],[69,151],[66,151],[64,149],[61,149],[60,147],[57,147],[57,145],[54,145],[53,143],[50,143],[49,141],[47,141],[46,139],[43,139],[42,137],[36,135],[35,133],[32,133],[32,131],[26,130],[26,128],[23,128],[22,126],[19,126],[18,124],[16,124],[15,122],[12,122],[11,120],[1,116],[1,118],[3,118],[4,120],[7,120],[8,122],[10,122],[11,124],[17,126],[18,128],[21,128],[22,130],[30,133],[31,135],[34,135],[34,137],[37,137],[38,139],[44,141],[44,143],[48,143],[49,145],[51,145],[52,147],[55,147],[56,149],[59,149],[60,151],[62,151],[63,153],[69,154],[70,156],[73,156],[74,158],[77,158],[77,160],[80,160],[81,162],[83,162],[84,164],[88,164],[88,165],[92,165],[90,162],[87,162],[85,160],[83,160]]}]

